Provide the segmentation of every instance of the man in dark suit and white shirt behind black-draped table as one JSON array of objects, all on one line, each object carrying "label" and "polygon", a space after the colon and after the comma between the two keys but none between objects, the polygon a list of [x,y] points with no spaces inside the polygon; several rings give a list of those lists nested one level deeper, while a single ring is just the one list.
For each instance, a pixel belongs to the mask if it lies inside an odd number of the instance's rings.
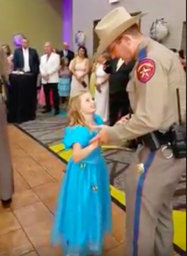
[{"label": "man in dark suit and white shirt behind black-draped table", "polygon": [[39,56],[34,48],[29,47],[28,39],[21,40],[21,47],[14,50],[13,69],[30,74],[30,88],[32,86],[32,95],[30,95],[31,119],[35,119],[37,105],[37,77],[39,73]]}]

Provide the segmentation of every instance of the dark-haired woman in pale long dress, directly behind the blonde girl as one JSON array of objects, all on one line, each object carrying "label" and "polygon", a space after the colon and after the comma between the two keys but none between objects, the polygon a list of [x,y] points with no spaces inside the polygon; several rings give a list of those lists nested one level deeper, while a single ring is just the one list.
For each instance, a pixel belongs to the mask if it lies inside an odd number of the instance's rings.
[{"label": "dark-haired woman in pale long dress, directly behind the blonde girl", "polygon": [[89,60],[84,46],[78,48],[78,54],[69,66],[72,72],[70,96],[80,90],[88,90]]}]

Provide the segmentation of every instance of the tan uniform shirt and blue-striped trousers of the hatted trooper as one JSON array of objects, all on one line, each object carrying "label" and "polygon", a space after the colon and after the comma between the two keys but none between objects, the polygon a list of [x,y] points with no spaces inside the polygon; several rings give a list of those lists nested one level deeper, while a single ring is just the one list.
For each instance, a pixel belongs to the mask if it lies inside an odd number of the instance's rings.
[{"label": "tan uniform shirt and blue-striped trousers of the hatted trooper", "polygon": [[[177,88],[185,118],[186,74],[179,58],[149,38],[140,44],[137,56],[142,49],[147,56],[137,60],[127,87],[134,114],[130,120],[106,128],[111,142],[168,130],[178,121]],[[172,197],[185,172],[186,158],[166,159],[161,149],[150,152],[145,146],[138,147],[126,170],[127,256],[173,255]]]}]

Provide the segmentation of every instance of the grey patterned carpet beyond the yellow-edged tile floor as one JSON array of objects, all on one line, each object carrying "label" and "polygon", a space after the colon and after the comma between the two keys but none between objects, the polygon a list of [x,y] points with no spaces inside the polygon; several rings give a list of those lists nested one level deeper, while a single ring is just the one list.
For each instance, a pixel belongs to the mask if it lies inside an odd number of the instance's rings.
[{"label": "grey patterned carpet beyond the yellow-edged tile floor", "polygon": [[[52,145],[61,142],[66,122],[67,119],[63,112],[60,116],[55,117],[51,114],[42,114],[38,112],[36,120],[28,121],[17,126],[45,147],[49,148]],[[111,184],[118,190],[125,191],[125,171],[131,162],[133,154],[134,152],[126,151],[124,149],[103,150],[103,155],[105,156],[110,172]],[[177,186],[173,198],[173,205],[175,209],[186,209],[186,173],[181,177]]]}]

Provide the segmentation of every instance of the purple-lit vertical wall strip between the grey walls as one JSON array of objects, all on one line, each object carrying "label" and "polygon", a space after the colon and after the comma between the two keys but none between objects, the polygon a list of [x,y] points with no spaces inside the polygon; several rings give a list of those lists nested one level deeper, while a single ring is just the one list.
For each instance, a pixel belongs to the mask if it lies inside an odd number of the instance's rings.
[{"label": "purple-lit vertical wall strip between the grey walls", "polygon": [[62,41],[72,47],[73,0],[62,0]]}]

